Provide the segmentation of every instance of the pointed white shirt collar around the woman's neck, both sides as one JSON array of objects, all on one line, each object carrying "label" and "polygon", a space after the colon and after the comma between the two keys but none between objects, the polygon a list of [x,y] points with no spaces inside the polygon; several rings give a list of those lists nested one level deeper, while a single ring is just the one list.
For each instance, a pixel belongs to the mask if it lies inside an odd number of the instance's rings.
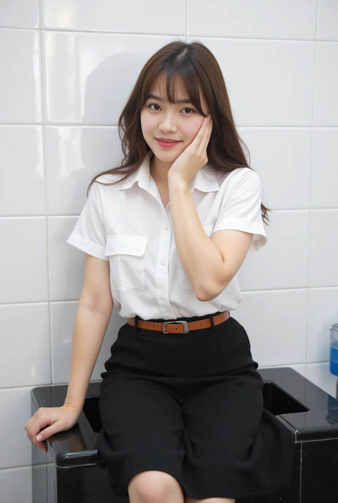
[{"label": "pointed white shirt collar around the woman's neck, both sides", "polygon": [[[132,187],[132,185],[134,185],[135,182],[137,182],[141,189],[149,192],[151,155],[152,150],[149,150],[149,152],[147,152],[147,154],[145,155],[139,169],[120,186],[120,190],[129,189],[130,187]],[[207,166],[207,164],[205,166]],[[205,166],[203,166],[191,179],[189,183],[190,193],[194,192],[195,189],[198,189],[202,192],[218,191],[219,187],[215,172],[206,173]]]}]

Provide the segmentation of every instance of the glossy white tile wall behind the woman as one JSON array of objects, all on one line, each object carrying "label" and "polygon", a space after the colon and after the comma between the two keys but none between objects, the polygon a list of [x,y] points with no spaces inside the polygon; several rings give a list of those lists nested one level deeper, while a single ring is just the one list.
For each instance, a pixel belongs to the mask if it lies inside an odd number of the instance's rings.
[{"label": "glossy white tile wall behind the woman", "polygon": [[[117,121],[145,61],[203,41],[271,208],[234,314],[260,367],[336,396],[338,4],[330,0],[3,0],[0,5],[0,492],[32,503],[34,386],[67,383],[85,257],[66,239],[92,177],[120,160]],[[92,379],[125,322],[116,311]],[[20,483],[17,483],[20,481]]]}]

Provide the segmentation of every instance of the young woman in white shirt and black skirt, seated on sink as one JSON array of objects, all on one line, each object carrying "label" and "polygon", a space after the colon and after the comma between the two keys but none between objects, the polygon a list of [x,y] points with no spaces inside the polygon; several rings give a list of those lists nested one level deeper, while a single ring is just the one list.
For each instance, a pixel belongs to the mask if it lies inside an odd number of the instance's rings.
[{"label": "young woman in white shirt and black skirt, seated on sink", "polygon": [[114,304],[127,322],[101,374],[98,449],[131,502],[283,490],[294,437],[263,408],[249,338],[229,316],[269,210],[212,53],[182,40],[157,51],[119,131],[124,159],[92,180],[67,240],[86,252],[67,397],[27,435],[46,449],[76,423]]}]

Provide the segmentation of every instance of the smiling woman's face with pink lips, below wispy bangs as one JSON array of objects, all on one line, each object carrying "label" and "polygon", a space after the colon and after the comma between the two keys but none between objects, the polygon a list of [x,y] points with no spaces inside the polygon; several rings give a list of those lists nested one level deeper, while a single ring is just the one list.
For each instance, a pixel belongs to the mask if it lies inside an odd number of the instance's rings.
[{"label": "smiling woman's face with pink lips, below wispy bangs", "polygon": [[[189,102],[188,95],[182,87],[176,92],[176,99],[187,100],[186,103],[173,105],[165,103],[160,92],[158,80],[155,81],[141,111],[141,129],[145,141],[154,155],[164,162],[174,162],[183,150],[193,141],[198,133],[204,116]],[[202,110],[207,115],[209,109],[203,94],[200,92]],[[179,140],[173,147],[161,146],[156,138]]]}]

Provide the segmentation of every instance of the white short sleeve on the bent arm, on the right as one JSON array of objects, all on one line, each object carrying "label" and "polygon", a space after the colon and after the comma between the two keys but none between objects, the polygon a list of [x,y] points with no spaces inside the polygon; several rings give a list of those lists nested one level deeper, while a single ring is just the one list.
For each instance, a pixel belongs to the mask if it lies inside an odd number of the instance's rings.
[{"label": "white short sleeve on the bent arm, on the right", "polygon": [[230,179],[229,190],[225,190],[224,195],[213,232],[224,229],[250,232],[253,236],[248,251],[262,248],[267,237],[261,213],[262,184],[259,175],[249,169],[234,181]]}]

